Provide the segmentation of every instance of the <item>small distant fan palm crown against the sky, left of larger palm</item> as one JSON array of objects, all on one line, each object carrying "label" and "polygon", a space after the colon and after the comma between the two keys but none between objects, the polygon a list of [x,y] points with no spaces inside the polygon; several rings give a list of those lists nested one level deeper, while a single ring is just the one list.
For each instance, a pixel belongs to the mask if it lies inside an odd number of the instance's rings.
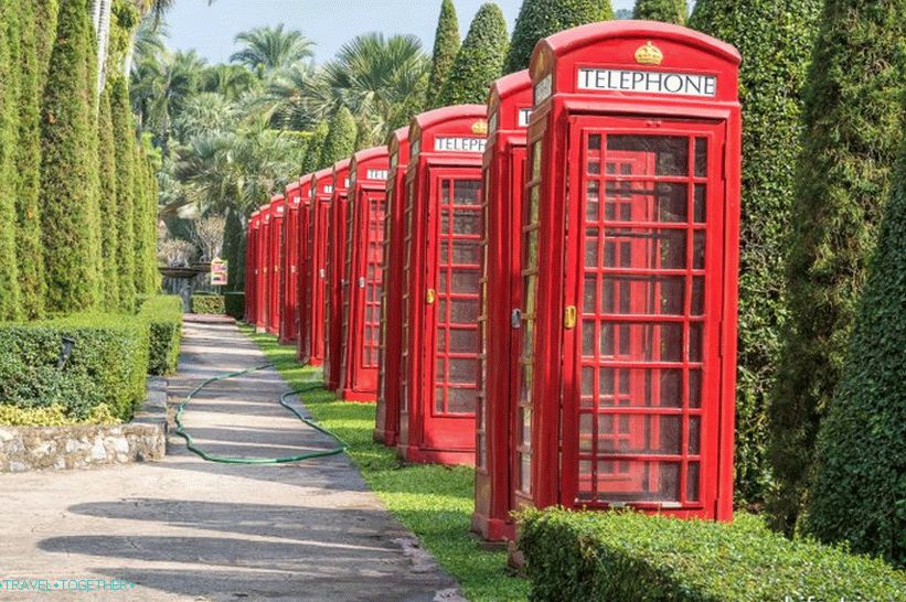
[{"label": "small distant fan palm crown against the sky, left of larger palm", "polygon": [[264,79],[265,75],[305,61],[313,56],[315,43],[297,30],[284,30],[280,23],[276,28],[263,26],[236,35],[242,50],[234,53],[230,61],[245,65]]}]

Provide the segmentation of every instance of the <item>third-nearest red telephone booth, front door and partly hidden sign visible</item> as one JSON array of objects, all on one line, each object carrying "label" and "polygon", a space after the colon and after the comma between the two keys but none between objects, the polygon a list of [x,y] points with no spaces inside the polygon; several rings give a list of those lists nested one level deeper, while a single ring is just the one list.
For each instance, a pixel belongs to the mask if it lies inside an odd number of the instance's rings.
[{"label": "third-nearest red telephone booth, front door and partly hidden sign visible", "polygon": [[444,107],[409,128],[398,443],[409,462],[475,462],[486,114]]}]

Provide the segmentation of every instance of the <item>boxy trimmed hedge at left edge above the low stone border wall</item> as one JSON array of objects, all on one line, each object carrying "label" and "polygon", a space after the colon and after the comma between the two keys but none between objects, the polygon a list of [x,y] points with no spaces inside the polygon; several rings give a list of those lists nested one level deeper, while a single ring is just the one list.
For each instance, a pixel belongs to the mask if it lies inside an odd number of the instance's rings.
[{"label": "boxy trimmed hedge at left edge above the low stone border wall", "polygon": [[[73,314],[43,322],[0,323],[0,405],[61,406],[73,420],[87,420],[106,405],[128,420],[145,399],[148,325],[121,314]],[[57,369],[63,336],[75,340]]]}]

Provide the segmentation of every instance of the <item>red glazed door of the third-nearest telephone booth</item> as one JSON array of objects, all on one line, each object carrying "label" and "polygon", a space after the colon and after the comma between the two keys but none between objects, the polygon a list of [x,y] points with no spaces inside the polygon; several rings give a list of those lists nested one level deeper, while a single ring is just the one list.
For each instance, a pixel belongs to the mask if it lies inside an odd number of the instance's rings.
[{"label": "red glazed door of the third-nearest telephone booth", "polygon": [[424,422],[428,447],[471,450],[478,383],[482,237],[481,178],[475,169],[431,170],[428,213]]}]

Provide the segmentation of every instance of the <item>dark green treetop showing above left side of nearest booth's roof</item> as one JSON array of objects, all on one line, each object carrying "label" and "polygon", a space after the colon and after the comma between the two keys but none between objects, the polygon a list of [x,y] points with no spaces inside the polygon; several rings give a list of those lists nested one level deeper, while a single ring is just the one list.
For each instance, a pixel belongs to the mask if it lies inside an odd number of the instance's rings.
[{"label": "dark green treetop showing above left side of nearest booth's roof", "polygon": [[503,72],[527,68],[532,51],[542,37],[608,19],[614,19],[610,0],[524,0],[516,17]]}]

